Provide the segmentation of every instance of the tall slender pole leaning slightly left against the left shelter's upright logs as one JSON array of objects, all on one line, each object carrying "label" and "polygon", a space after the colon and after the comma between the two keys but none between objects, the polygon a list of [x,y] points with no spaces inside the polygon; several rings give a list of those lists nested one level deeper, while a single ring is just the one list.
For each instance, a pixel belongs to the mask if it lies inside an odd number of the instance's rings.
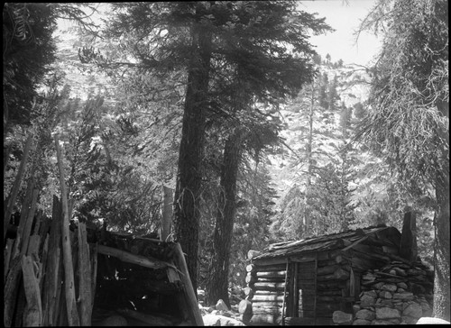
[{"label": "tall slender pole leaning slightly left against the left shelter's upright logs", "polygon": [[66,183],[64,181],[64,165],[62,161],[62,154],[60,150],[60,141],[58,135],[55,135],[55,145],[57,150],[58,168],[60,169],[60,189],[61,189],[61,203],[62,203],[62,220],[61,220],[61,235],[62,235],[62,253],[64,264],[64,287],[66,296],[66,309],[68,313],[69,326],[78,326],[77,304],[75,300],[75,282],[74,269],[72,265],[72,250],[70,245],[69,232],[69,208],[68,195],[66,190]]}]

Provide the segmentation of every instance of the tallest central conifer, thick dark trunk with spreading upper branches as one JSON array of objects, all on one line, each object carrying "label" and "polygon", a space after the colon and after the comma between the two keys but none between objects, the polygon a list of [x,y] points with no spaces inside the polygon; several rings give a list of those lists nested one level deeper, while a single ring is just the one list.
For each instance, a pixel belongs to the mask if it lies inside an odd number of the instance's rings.
[{"label": "tallest central conifer, thick dark trunk with spreading upper branches", "polygon": [[[117,4],[110,35],[133,33],[133,49],[144,69],[164,75],[187,71],[179,148],[175,237],[187,253],[190,278],[197,286],[201,162],[207,115],[220,109],[214,101],[222,74],[239,63],[248,90],[264,102],[294,95],[311,77],[314,51],[304,35],[325,31],[324,20],[299,12],[296,2],[189,2]],[[281,44],[290,44],[290,54]],[[150,47],[149,47],[150,45]]]}]

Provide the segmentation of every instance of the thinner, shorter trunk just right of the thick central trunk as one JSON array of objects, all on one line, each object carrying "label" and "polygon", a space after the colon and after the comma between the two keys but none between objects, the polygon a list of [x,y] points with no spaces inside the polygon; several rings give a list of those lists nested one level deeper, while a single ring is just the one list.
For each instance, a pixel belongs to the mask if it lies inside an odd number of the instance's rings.
[{"label": "thinner, shorter trunk just right of the thick central trunk", "polygon": [[222,299],[230,308],[228,299],[228,273],[232,232],[235,221],[236,177],[241,156],[241,133],[229,136],[224,150],[224,163],[221,172],[221,195],[216,214],[216,227],[213,242],[213,260],[208,270],[206,301],[214,305]]}]

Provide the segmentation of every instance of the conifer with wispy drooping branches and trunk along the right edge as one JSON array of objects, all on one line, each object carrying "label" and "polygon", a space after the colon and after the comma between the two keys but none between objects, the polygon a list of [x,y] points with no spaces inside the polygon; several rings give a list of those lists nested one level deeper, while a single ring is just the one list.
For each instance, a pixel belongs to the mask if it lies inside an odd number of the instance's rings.
[{"label": "conifer with wispy drooping branches and trunk along the right edge", "polygon": [[[362,28],[383,31],[370,113],[358,137],[411,195],[435,191],[434,316],[450,320],[448,4],[378,1]],[[380,29],[383,26],[384,28]]]}]

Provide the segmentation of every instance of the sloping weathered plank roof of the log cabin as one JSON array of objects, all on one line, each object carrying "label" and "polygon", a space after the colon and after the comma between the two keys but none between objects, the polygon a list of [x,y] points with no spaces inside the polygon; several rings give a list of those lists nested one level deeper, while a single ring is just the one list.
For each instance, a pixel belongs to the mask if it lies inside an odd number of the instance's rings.
[{"label": "sloping weathered plank roof of the log cabin", "polygon": [[[304,252],[318,252],[329,251],[345,248],[345,244],[352,244],[364,237],[375,235],[377,232],[391,232],[400,237],[400,232],[394,227],[387,227],[385,225],[371,226],[364,229],[348,230],[346,232],[336,232],[332,234],[311,237],[300,241],[284,241],[271,244],[266,248],[262,254],[254,258],[254,260],[287,257],[291,255],[298,255]],[[390,234],[391,234],[390,233]],[[346,241],[346,242],[345,242]],[[350,242],[349,242],[350,241]],[[391,241],[388,240],[387,244]]]}]

